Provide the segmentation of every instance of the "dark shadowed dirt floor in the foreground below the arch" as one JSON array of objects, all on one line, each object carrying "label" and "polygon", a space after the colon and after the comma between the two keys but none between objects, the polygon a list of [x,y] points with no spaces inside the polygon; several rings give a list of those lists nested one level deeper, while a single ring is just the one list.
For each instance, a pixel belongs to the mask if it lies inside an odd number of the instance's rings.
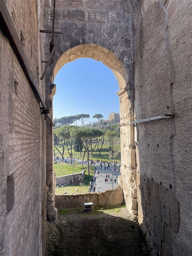
[{"label": "dark shadowed dirt floor in the foreground below the arch", "polygon": [[126,208],[59,215],[49,223],[49,256],[148,256],[135,217]]}]

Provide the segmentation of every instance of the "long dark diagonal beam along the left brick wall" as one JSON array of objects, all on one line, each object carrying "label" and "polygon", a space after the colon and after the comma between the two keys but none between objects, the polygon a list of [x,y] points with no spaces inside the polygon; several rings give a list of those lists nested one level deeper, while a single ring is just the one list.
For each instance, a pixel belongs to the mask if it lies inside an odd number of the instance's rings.
[{"label": "long dark diagonal beam along the left brick wall", "polygon": [[46,105],[39,90],[38,83],[36,82],[32,74],[26,54],[23,50],[23,46],[21,44],[21,41],[19,40],[17,30],[15,29],[15,25],[11,19],[4,0],[0,1],[0,29],[2,30],[3,34],[8,38],[9,43],[13,48],[13,51],[15,52],[19,63],[21,64],[23,72],[25,73],[26,78],[28,79],[28,82],[32,87],[32,90],[36,98],[38,99],[38,102],[41,102],[42,107],[46,109]]}]

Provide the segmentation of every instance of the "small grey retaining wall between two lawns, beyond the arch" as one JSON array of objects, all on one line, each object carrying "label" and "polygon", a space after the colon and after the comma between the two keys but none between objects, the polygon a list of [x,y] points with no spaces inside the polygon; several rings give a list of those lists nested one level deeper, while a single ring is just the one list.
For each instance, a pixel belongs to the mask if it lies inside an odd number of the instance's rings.
[{"label": "small grey retaining wall between two lawns, beyond the arch", "polygon": [[56,184],[66,184],[66,185],[70,185],[72,184],[72,180],[73,180],[73,184],[77,185],[81,182],[83,182],[85,178],[85,169],[83,169],[82,173],[74,173],[74,174],[69,174],[69,175],[63,175],[63,176],[59,176],[56,178]]}]

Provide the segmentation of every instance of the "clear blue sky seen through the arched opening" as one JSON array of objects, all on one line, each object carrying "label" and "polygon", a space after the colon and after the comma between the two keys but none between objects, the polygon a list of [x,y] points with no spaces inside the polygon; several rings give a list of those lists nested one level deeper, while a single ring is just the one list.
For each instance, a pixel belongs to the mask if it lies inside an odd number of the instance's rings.
[{"label": "clear blue sky seen through the arched opening", "polygon": [[[94,114],[108,119],[119,113],[118,83],[112,70],[93,59],[81,58],[65,64],[54,79],[53,117],[90,114],[86,124],[96,122]],[[79,123],[80,124],[80,123]]]}]

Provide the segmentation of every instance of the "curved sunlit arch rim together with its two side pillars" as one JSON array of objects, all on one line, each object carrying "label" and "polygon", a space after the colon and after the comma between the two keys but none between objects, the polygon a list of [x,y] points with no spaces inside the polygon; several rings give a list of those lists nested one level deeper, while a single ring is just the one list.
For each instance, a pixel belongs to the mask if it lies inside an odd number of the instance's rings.
[{"label": "curved sunlit arch rim together with its two side pillars", "polygon": [[[130,114],[131,110],[131,102],[128,95],[128,75],[126,73],[126,69],[117,58],[117,56],[112,53],[111,51],[101,47],[99,45],[77,45],[76,47],[68,49],[64,52],[58,61],[54,65],[53,70],[53,77],[52,82],[54,81],[54,77],[57,75],[58,71],[62,66],[66,63],[76,60],[78,58],[92,58],[94,60],[101,61],[103,64],[108,66],[114,73],[115,77],[117,78],[118,85],[119,85],[119,92],[117,95],[119,96],[120,102],[120,122],[128,122],[131,121],[133,116]],[[51,85],[50,85],[51,86]],[[51,106],[53,101],[53,95],[55,94],[56,88],[55,85],[53,86],[54,90],[51,91],[49,98],[51,100]],[[52,88],[53,88],[52,87]],[[52,109],[51,109],[52,112]],[[49,121],[48,121],[49,122]],[[51,124],[47,126],[47,133],[52,134],[52,127]],[[47,134],[47,135],[48,135]],[[132,126],[122,126],[121,127],[121,151],[122,151],[122,169],[121,173],[122,176],[119,179],[119,183],[121,184],[124,190],[124,197],[128,206],[128,209],[132,213],[137,213],[137,191],[136,191],[136,171],[135,171],[135,152],[134,147],[131,145],[132,140],[134,139],[133,134],[133,127]],[[51,140],[49,141],[49,143]],[[53,148],[52,143],[49,145],[49,164],[51,164],[53,159]],[[53,165],[51,165],[53,166]],[[48,186],[48,209],[51,209],[49,219],[55,218],[55,210],[54,210],[54,177],[53,177],[53,167],[52,170],[49,170],[49,186]],[[127,186],[127,184],[131,184]],[[51,204],[50,204],[51,202]],[[47,209],[47,211],[48,211]],[[48,211],[49,214],[49,211]],[[54,216],[54,217],[53,217]]]}]

